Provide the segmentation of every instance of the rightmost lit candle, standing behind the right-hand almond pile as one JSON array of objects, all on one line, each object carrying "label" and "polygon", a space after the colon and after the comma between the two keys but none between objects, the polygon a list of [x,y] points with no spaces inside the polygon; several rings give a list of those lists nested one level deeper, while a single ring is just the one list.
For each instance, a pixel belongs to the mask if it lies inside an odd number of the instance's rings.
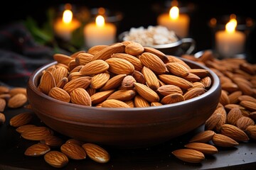
[{"label": "rightmost lit candle, standing behind the right-hand almond pile", "polygon": [[222,57],[234,57],[244,51],[245,33],[235,30],[237,21],[230,18],[225,30],[215,33],[216,50]]}]

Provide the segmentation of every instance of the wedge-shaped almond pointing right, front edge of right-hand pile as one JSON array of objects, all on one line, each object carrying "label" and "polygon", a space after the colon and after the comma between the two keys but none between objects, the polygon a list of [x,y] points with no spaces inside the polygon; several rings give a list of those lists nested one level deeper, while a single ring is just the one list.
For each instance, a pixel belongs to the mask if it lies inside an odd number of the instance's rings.
[{"label": "wedge-shaped almond pointing right, front edge of right-hand pile", "polygon": [[233,138],[219,133],[213,135],[212,141],[213,144],[218,147],[235,147],[236,145],[239,145],[239,143],[233,140]]}]

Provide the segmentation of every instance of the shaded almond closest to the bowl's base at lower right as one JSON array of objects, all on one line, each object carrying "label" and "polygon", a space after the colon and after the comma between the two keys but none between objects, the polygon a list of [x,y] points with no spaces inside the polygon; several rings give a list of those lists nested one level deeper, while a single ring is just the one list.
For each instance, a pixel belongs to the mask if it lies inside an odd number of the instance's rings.
[{"label": "shaded almond closest to the bowl's base at lower right", "polygon": [[198,132],[196,135],[194,135],[189,142],[202,142],[206,143],[212,140],[213,135],[215,132],[213,130],[204,130],[202,132]]}]

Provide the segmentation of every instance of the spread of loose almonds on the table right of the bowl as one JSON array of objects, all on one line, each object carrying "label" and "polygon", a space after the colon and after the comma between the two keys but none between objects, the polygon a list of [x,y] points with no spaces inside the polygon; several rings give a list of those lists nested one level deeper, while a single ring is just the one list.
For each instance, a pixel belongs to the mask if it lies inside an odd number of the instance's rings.
[{"label": "spread of loose almonds on the table right of the bowl", "polygon": [[181,57],[213,70],[220,79],[222,92],[218,107],[206,120],[205,131],[192,137],[185,148],[174,150],[174,156],[198,163],[205,159],[205,154],[217,153],[217,147],[235,147],[240,142],[256,140],[256,65],[238,58],[218,60],[210,50],[199,58]]}]

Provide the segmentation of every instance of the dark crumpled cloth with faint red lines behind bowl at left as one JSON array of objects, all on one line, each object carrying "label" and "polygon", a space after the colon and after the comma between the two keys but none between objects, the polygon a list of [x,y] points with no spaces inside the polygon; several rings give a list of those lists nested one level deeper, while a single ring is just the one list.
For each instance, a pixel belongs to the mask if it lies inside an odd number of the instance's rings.
[{"label": "dark crumpled cloth with faint red lines behind bowl at left", "polygon": [[35,42],[23,23],[1,26],[0,85],[26,87],[36,69],[53,62],[53,54],[53,48]]}]

